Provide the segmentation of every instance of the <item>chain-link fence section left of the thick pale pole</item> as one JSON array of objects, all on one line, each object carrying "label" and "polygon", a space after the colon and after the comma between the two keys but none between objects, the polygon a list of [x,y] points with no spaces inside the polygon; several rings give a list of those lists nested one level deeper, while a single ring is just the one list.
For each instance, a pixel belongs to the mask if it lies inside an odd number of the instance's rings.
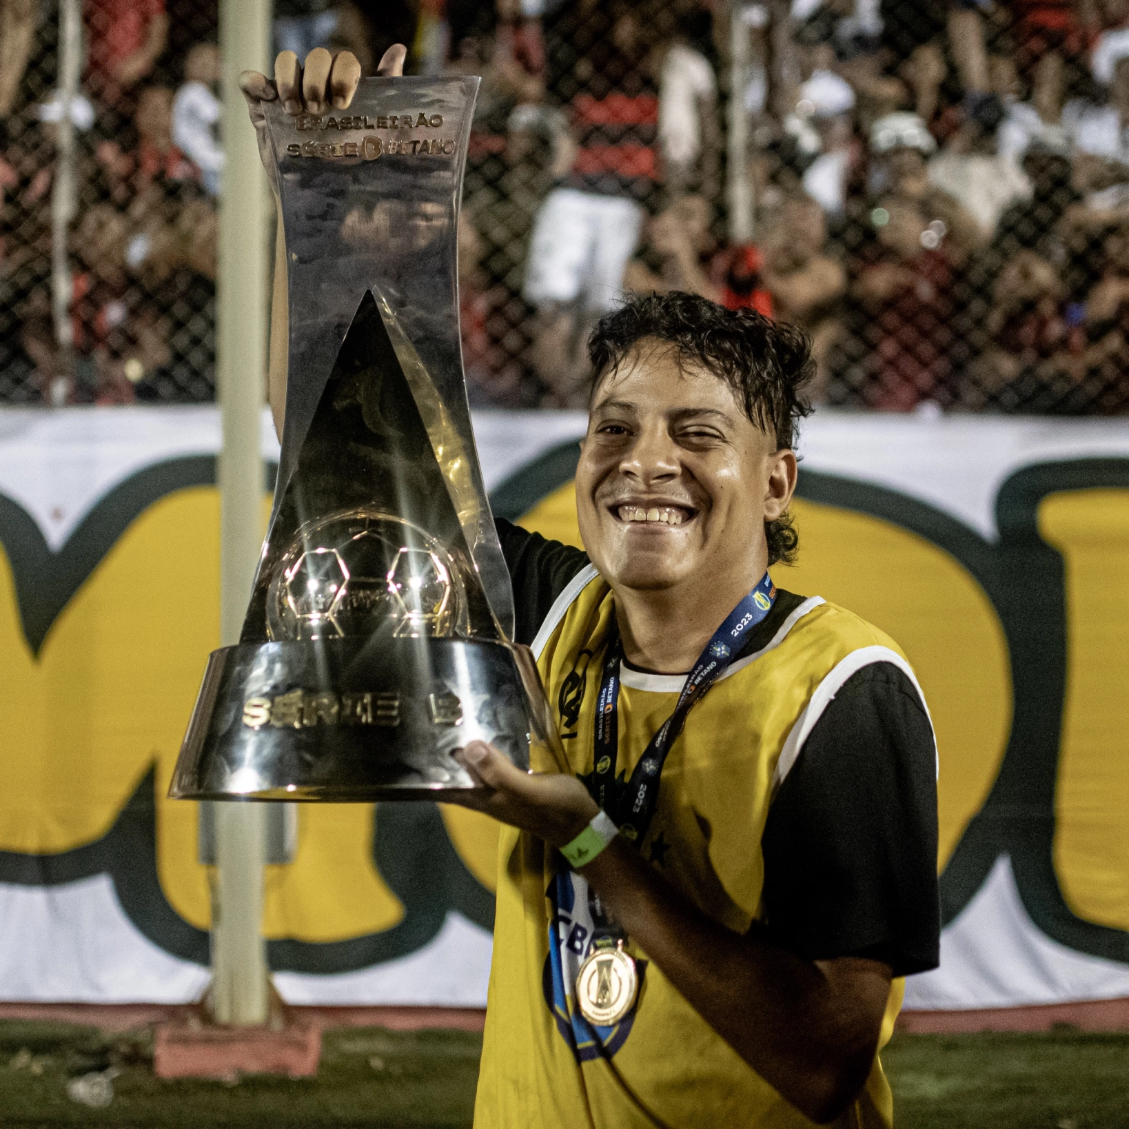
[{"label": "chain-link fence section left of the thick pale pole", "polygon": [[174,132],[215,43],[207,3],[0,3],[0,401],[212,397],[219,150]]}]

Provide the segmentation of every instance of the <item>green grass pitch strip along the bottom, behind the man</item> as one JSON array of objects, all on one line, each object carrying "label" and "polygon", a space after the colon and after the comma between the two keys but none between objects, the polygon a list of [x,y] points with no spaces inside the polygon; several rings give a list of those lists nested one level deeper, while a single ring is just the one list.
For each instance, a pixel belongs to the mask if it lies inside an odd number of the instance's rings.
[{"label": "green grass pitch strip along the bottom, behind the man", "polygon": [[[0,1127],[469,1127],[480,1045],[453,1031],[327,1031],[316,1078],[228,1085],[155,1078],[145,1030],[0,1022]],[[1129,1033],[899,1034],[883,1061],[898,1129],[1129,1129]],[[95,1070],[113,1074],[104,1109],[67,1094]]]}]

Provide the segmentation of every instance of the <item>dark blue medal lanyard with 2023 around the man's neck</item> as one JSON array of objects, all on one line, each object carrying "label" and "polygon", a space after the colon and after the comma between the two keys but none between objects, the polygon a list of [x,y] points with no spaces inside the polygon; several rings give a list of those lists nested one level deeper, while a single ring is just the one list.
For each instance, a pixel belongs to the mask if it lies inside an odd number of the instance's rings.
[{"label": "dark blue medal lanyard with 2023 around the man's neck", "polygon": [[646,752],[634,767],[631,779],[619,782],[615,779],[615,761],[619,754],[620,660],[623,644],[619,628],[612,616],[611,634],[604,654],[604,669],[596,699],[595,724],[595,770],[593,772],[593,798],[620,825],[620,831],[637,846],[650,826],[658,803],[658,782],[666,763],[666,755],[686,724],[691,707],[700,701],[706,691],[726,672],[730,656],[741,650],[742,644],[776,603],[776,585],[764,574],[761,583],[729,613],[725,622],[714,632],[714,638],[698,657],[693,669],[686,675],[685,685],[679,694],[674,712],[659,726],[650,738]]}]

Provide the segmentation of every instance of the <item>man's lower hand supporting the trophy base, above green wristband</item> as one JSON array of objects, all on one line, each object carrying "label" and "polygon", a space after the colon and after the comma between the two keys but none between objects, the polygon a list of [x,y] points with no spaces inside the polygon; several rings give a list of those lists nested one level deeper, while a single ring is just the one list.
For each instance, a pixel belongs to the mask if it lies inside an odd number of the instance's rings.
[{"label": "man's lower hand supporting the trophy base, above green wristband", "polygon": [[490,790],[484,796],[479,793],[462,798],[455,794],[452,803],[530,831],[550,847],[559,849],[570,843],[599,811],[576,777],[563,772],[523,772],[483,741],[472,741],[455,756]]}]

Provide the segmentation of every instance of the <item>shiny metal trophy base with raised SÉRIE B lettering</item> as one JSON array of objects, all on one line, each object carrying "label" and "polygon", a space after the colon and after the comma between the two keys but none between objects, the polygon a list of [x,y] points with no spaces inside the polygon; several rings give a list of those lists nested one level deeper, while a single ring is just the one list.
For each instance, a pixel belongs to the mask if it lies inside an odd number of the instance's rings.
[{"label": "shiny metal trophy base with raised S\u00c9RIE B lettering", "polygon": [[212,651],[174,799],[443,799],[487,741],[527,769],[546,734],[533,655],[480,639],[325,639]]}]

